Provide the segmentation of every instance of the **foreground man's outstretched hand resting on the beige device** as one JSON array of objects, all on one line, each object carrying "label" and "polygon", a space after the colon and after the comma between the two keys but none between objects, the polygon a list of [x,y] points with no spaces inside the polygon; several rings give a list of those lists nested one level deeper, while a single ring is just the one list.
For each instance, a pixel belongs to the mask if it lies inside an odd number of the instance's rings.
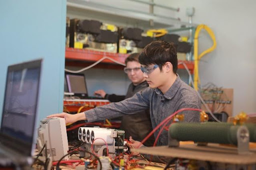
[{"label": "foreground man's outstretched hand resting on the beige device", "polygon": [[57,113],[57,114],[47,116],[47,118],[52,118],[52,117],[64,118],[66,124],[72,124],[80,120],[86,120],[85,114],[83,112],[77,113],[74,115],[62,112],[62,113]]}]

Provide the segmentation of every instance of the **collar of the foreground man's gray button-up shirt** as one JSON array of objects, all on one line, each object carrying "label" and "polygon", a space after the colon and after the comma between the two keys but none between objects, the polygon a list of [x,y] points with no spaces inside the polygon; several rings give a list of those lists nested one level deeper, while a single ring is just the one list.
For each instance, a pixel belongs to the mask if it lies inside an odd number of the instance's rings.
[{"label": "collar of the foreground man's gray button-up shirt", "polygon": [[[172,99],[175,96],[175,94],[177,93],[179,87],[181,86],[180,81],[181,80],[180,80],[180,78],[179,78],[179,76],[177,74],[176,80],[171,85],[171,87],[166,91],[166,93],[164,93],[164,95],[163,95],[166,99],[170,100],[170,99]],[[162,92],[158,88],[156,88],[154,91],[155,91],[156,94],[158,94],[158,95],[161,94],[162,95]]]}]

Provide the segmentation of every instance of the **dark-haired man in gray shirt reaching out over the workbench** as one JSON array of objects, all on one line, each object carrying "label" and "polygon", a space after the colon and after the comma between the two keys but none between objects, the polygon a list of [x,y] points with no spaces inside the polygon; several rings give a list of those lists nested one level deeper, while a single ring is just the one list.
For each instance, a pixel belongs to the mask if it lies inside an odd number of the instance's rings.
[{"label": "dark-haired man in gray shirt reaching out over the workbench", "polygon": [[[139,55],[141,71],[149,87],[134,94],[121,102],[110,103],[69,115],[67,113],[54,114],[49,117],[63,117],[66,123],[79,120],[93,122],[133,114],[145,109],[150,111],[152,128],[154,129],[166,117],[182,108],[200,109],[200,99],[194,89],[184,83],[176,74],[177,54],[175,45],[165,41],[153,41],[148,44]],[[199,113],[184,111],[184,121],[199,122]],[[154,137],[159,133],[155,131]],[[130,139],[132,147],[140,146],[138,141]],[[157,141],[157,146],[167,145],[167,131],[163,131]]]}]

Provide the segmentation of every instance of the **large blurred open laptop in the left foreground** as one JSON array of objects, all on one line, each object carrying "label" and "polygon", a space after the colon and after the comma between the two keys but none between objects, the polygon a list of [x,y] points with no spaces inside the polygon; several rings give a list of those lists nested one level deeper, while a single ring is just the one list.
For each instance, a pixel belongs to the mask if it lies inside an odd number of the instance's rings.
[{"label": "large blurred open laptop in the left foreground", "polygon": [[1,127],[0,166],[16,169],[33,163],[42,59],[7,69]]}]

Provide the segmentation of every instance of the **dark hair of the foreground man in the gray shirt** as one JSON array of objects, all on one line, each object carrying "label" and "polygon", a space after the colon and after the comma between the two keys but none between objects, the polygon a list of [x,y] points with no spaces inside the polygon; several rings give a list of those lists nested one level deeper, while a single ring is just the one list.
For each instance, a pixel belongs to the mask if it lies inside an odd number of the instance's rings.
[{"label": "dark hair of the foreground man in the gray shirt", "polygon": [[173,72],[177,71],[177,52],[175,44],[156,40],[146,45],[138,57],[139,63],[143,65],[157,64],[162,70],[165,62],[170,62]]}]

